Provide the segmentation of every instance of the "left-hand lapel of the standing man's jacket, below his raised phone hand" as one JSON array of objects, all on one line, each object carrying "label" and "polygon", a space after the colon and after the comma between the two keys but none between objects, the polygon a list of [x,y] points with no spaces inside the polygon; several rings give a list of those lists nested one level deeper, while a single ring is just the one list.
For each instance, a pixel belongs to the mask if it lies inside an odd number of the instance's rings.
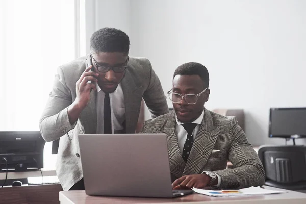
[{"label": "left-hand lapel of the standing man's jacket, below his raised phone hand", "polygon": [[81,112],[85,133],[96,133],[97,129],[97,108],[96,108],[97,92],[90,92],[90,100],[87,106]]}]

